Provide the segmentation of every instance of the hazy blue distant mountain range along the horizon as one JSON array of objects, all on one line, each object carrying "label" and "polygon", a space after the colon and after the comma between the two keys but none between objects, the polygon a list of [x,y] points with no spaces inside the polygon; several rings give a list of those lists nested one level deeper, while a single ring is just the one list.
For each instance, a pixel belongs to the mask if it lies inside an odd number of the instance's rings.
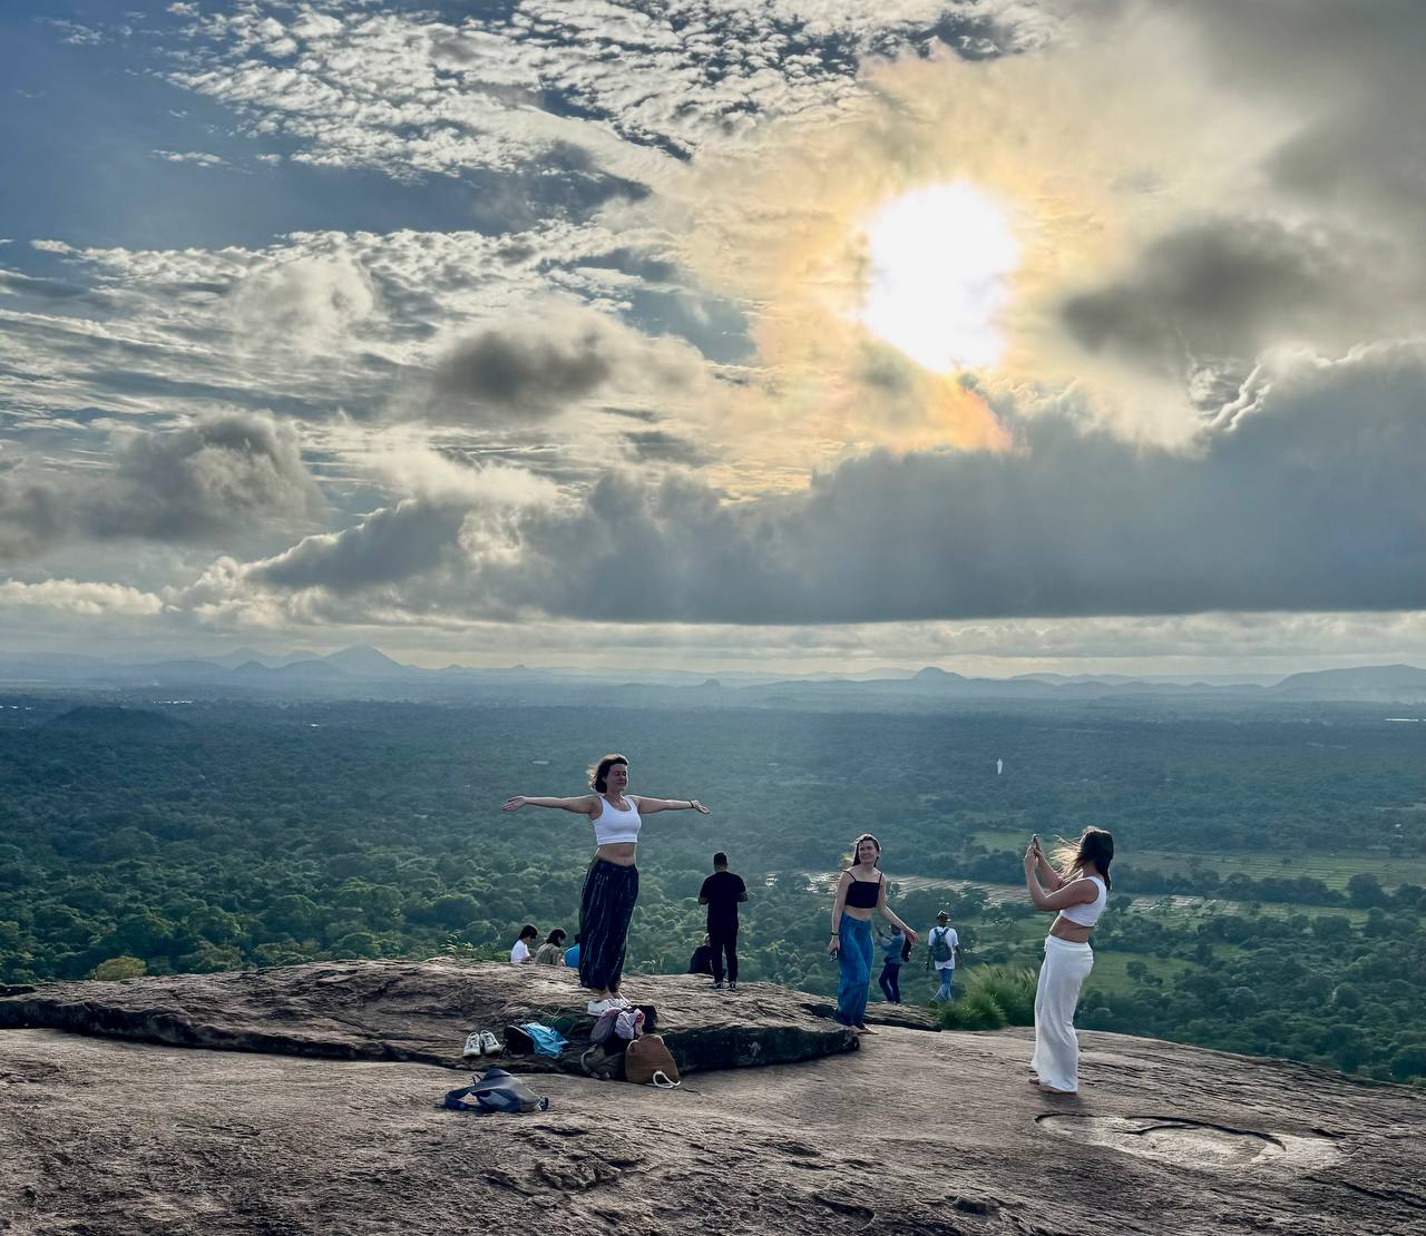
[{"label": "hazy blue distant mountain range along the horizon", "polygon": [[1219,674],[1205,679],[1127,674],[1018,674],[1011,679],[965,677],[937,666],[921,670],[887,667],[857,674],[814,674],[800,679],[766,673],[706,673],[679,670],[589,670],[575,667],[471,669],[446,666],[426,670],[388,657],[371,644],[319,654],[261,653],[242,647],[215,657],[183,657],[160,661],[120,661],[61,653],[0,653],[0,687],[23,690],[48,686],[111,689],[185,687],[221,693],[317,693],[401,699],[469,697],[496,693],[520,699],[556,689],[578,689],[578,699],[605,693],[612,686],[632,690],[697,689],[697,703],[727,706],[810,704],[853,706],[863,700],[903,700],[927,706],[938,700],[1088,700],[1088,699],[1189,699],[1222,700],[1338,700],[1365,703],[1426,703],[1426,670],[1416,666],[1360,666],[1318,670],[1272,679],[1253,674]]}]

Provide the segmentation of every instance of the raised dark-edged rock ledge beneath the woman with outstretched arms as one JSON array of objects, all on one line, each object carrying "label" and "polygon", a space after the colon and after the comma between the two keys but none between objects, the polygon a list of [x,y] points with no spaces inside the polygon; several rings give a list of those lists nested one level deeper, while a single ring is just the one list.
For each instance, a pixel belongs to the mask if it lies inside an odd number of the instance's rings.
[{"label": "raised dark-edged rock ledge beneath the woman with outstretched arms", "polygon": [[[790,1064],[854,1051],[831,1005],[771,984],[713,991],[692,975],[630,978],[629,996],[657,1011],[657,1031],[684,1072]],[[503,1038],[536,1021],[570,1048],[502,1056],[518,1071],[579,1072],[593,1018],[573,972],[543,965],[342,961],[234,974],[66,982],[0,998],[0,1028],[50,1028],[222,1051],[462,1068],[473,1029]],[[900,1006],[888,1006],[898,1009]],[[907,1009],[906,1016],[924,1014]],[[927,1018],[928,1022],[928,1018]],[[492,1061],[493,1064],[493,1061]]]}]

